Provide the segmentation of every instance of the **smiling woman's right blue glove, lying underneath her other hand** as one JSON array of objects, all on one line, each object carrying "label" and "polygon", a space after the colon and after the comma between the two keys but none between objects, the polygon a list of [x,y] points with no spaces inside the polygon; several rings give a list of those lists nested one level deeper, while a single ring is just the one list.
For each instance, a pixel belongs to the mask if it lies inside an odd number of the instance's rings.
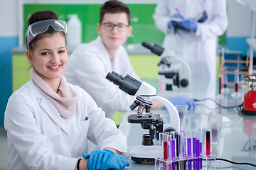
[{"label": "smiling woman's right blue glove, lying underneath her other hand", "polygon": [[130,166],[128,160],[120,154],[112,154],[110,157],[107,157],[107,161],[104,164],[101,164],[100,170],[107,169],[125,169],[126,166]]}]

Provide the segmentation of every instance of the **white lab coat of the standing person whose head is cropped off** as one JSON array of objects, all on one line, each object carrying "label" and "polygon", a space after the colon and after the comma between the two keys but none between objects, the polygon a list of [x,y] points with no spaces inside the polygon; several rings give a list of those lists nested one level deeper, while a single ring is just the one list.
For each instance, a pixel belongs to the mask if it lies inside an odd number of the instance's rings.
[{"label": "white lab coat of the standing person whose head is cropped off", "polygon": [[[186,19],[194,18],[203,11],[206,11],[208,19],[198,23],[196,33],[186,30],[174,33],[174,28],[169,29],[167,25],[171,16],[178,13],[176,8]],[[216,78],[217,37],[228,27],[225,0],[159,0],[153,18],[156,27],[166,33],[163,46],[188,63],[192,78]],[[176,64],[171,67],[180,69]]]}]

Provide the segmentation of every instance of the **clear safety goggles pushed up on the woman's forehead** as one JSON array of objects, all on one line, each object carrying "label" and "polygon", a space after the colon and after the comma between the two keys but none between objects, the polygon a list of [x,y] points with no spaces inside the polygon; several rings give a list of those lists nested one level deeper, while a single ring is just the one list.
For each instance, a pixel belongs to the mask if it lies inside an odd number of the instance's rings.
[{"label": "clear safety goggles pushed up on the woman's forehead", "polygon": [[29,42],[36,38],[36,35],[45,33],[49,26],[53,27],[55,30],[64,32],[65,35],[68,33],[68,26],[65,21],[50,19],[32,23],[30,26],[28,26],[27,31],[27,49]]}]

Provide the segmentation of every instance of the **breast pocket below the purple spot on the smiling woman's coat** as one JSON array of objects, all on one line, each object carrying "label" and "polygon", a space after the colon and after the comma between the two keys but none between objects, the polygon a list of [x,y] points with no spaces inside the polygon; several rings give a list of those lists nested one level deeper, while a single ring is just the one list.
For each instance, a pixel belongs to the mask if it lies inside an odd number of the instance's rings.
[{"label": "breast pocket below the purple spot on the smiling woman's coat", "polygon": [[77,154],[87,153],[87,131],[89,120],[73,123],[74,145]]}]

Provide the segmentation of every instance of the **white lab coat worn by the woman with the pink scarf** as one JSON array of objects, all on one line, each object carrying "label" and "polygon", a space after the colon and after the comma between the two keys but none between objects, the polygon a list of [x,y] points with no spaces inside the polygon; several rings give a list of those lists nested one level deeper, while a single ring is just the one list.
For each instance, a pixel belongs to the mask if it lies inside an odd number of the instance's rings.
[{"label": "white lab coat worn by the woman with the pink scarf", "polygon": [[87,139],[100,149],[126,152],[127,142],[114,122],[78,86],[75,115],[61,118],[33,81],[15,91],[6,106],[4,126],[9,142],[9,169],[74,169],[87,153]]}]

